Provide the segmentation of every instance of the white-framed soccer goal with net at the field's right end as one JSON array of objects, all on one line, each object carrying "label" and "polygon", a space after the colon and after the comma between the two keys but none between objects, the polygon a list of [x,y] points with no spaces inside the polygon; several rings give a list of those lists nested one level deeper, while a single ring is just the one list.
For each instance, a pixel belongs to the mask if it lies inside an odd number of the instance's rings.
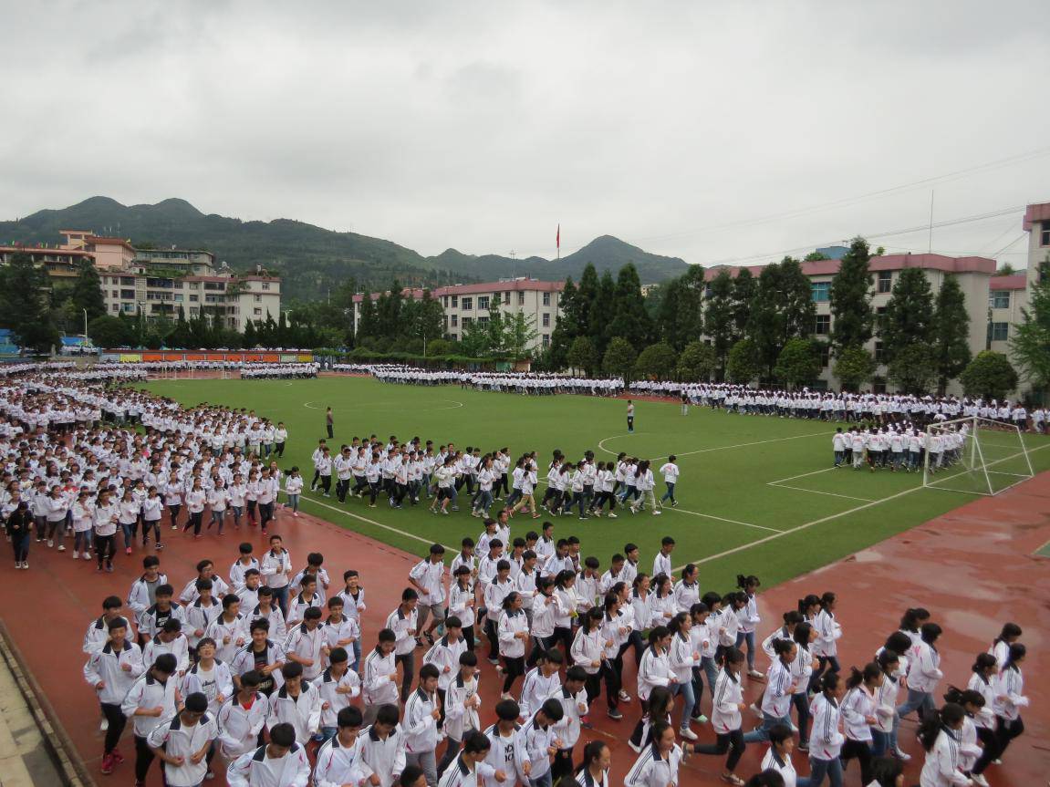
[{"label": "white-framed soccer goal with net at the field's right end", "polygon": [[1013,424],[976,416],[926,429],[923,486],[971,494],[999,494],[1035,472],[1024,435]]}]

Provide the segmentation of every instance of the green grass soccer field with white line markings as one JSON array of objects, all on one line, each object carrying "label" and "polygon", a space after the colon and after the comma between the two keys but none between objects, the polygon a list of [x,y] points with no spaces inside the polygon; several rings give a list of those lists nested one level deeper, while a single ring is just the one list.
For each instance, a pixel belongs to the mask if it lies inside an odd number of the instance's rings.
[{"label": "green grass soccer field with white line markings", "polygon": [[[620,451],[660,461],[675,453],[681,468],[678,508],[667,508],[662,516],[621,510],[614,520],[561,516],[554,534],[578,535],[584,554],[597,556],[603,570],[627,541],[642,547],[648,570],[659,539],[673,535],[675,566],[699,563],[705,589],[728,589],[737,573],[757,574],[769,587],[974,499],[965,492],[923,489],[921,473],[831,470],[835,426],[816,421],[699,408],[682,417],[677,404],[642,402],[636,404],[635,432],[628,434],[625,402],[590,397],[530,398],[363,378],[175,380],[144,387],[184,405],[250,407],[284,421],[290,439],[282,466],[298,465],[308,482],[313,475],[310,454],[324,435],[329,405],[335,414],[333,448],[355,434],[372,433],[383,440],[418,435],[435,445],[477,445],[483,453],[509,446],[516,458],[538,451],[541,476],[554,448],[570,459],[587,449],[598,460]],[[1025,442],[1036,472],[1050,468],[1050,451],[1044,450],[1050,439],[1026,435]],[[995,456],[1004,465],[1016,464],[1009,452],[1000,450]],[[657,481],[658,496],[658,475]],[[468,508],[442,517],[422,504],[396,511],[382,502],[370,509],[360,499],[340,506],[334,496],[310,493],[303,494],[302,505],[310,513],[416,554],[425,553],[433,541],[455,547],[464,535],[477,538],[481,523],[469,516]],[[519,515],[513,533],[524,535],[540,522]],[[339,568],[350,565],[346,556],[331,561]]]}]

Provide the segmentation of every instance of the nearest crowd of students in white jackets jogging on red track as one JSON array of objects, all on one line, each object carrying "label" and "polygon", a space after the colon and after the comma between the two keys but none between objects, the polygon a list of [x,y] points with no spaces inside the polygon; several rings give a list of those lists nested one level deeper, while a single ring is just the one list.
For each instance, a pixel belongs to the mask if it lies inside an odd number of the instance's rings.
[{"label": "nearest crowd of students in white jackets jogging on red track", "polygon": [[[724,757],[721,779],[735,785],[842,785],[854,760],[856,783],[902,785],[910,757],[900,722],[911,714],[922,787],[986,785],[985,770],[1024,731],[1026,648],[1013,623],[968,678],[950,665],[964,689],[946,684],[944,631],[922,609],[873,640],[868,663],[843,671],[835,593],[805,596],[770,631],[757,577],[701,593],[695,566],[672,575],[671,537],[651,572],[632,544],[602,571],[578,538],[552,531],[545,523],[542,535],[512,537],[505,519],[487,520],[448,566],[434,545],[376,632],[361,625],[366,577],[348,569],[333,583],[323,555],[296,560],[276,534],[258,556],[243,543],[226,578],[202,559],[181,592],[159,557],[145,557],[127,600],[105,598],[87,623],[103,772],[123,762],[130,723],[136,783],[160,759],[166,784],[198,785],[220,757],[232,785],[291,787],[312,773],[324,786],[607,787],[610,751],[585,730],[603,709],[625,719],[631,690],[638,757],[627,787],[678,784],[697,754]],[[501,687],[490,710],[481,680]],[[751,705],[744,681],[763,688]],[[761,772],[746,782],[737,769],[753,743],[763,746]],[[808,775],[796,772],[796,747]]]}]

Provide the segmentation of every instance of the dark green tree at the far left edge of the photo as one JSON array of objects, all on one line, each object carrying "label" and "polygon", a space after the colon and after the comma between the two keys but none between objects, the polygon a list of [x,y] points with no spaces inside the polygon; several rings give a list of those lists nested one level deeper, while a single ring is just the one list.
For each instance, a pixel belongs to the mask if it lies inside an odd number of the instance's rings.
[{"label": "dark green tree at the far left edge of the photo", "polygon": [[18,344],[49,353],[59,343],[50,310],[47,271],[25,252],[16,252],[0,269],[0,325],[10,328]]}]

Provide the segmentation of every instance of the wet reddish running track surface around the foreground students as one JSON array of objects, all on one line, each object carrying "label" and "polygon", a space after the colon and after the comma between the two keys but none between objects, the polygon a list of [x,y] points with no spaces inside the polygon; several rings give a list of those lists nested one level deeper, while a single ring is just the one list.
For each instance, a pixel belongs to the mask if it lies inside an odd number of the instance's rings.
[{"label": "wet reddish running track surface around the foreground students", "polygon": [[[991,768],[988,779],[996,787],[1045,784],[1050,766],[1046,743],[1050,740],[1050,682],[1041,681],[1038,676],[1050,671],[1050,653],[1045,641],[1050,631],[1050,563],[1035,557],[1033,552],[1050,540],[1048,512],[1050,473],[1044,473],[1000,497],[974,501],[857,555],[765,591],[761,595],[761,614],[766,621],[763,630],[779,619],[781,612],[794,608],[805,593],[834,590],[840,597],[844,629],[842,662],[862,664],[885,636],[897,629],[903,609],[924,605],[933,611],[934,618],[948,632],[942,647],[946,685],[948,680],[965,684],[973,655],[988,646],[1003,621],[1014,620],[1025,629],[1024,639],[1029,645],[1025,672],[1032,707],[1025,718],[1028,732],[1011,748],[1007,764]],[[849,522],[844,519],[841,526],[849,527]],[[364,628],[370,639],[396,605],[405,584],[404,576],[418,559],[309,516],[290,519],[282,515],[274,532],[286,537],[297,566],[304,562],[306,552],[320,551],[333,578],[345,568],[361,572],[368,590]],[[164,569],[176,587],[192,575],[193,563],[203,556],[211,557],[225,569],[235,559],[236,545],[244,536],[243,532],[228,530],[222,538],[207,535],[194,541],[172,533],[162,553]],[[259,534],[254,532],[251,537],[261,551],[264,540]],[[4,623],[45,694],[43,704],[99,782],[130,781],[131,764],[121,766],[120,775],[110,780],[98,775],[101,756],[98,707],[82,678],[81,639],[87,622],[99,614],[101,599],[110,593],[126,594],[139,574],[141,557],[141,553],[130,558],[121,555],[114,574],[97,574],[91,562],[74,561],[68,552],[57,553],[35,544],[29,572],[15,572],[9,566],[0,570]],[[744,568],[761,573],[760,567]],[[483,695],[491,707],[499,687],[490,667],[482,663]],[[633,666],[629,666],[625,675],[632,695],[633,672]],[[751,683],[749,699],[760,690],[761,684]],[[706,696],[706,710],[709,702]],[[630,726],[628,722],[616,724],[607,720],[602,701],[595,704],[592,719],[597,728],[586,732],[585,739],[600,736],[610,743],[613,783],[620,784],[634,760],[633,752],[623,743]],[[636,717],[634,706],[625,711],[630,720]],[[922,758],[918,745],[910,740],[909,729],[905,727],[902,745],[916,754],[909,767],[909,781],[918,782]],[[701,741],[711,738],[710,730],[698,731]],[[125,753],[131,750],[129,737],[123,748]],[[749,747],[739,772],[750,774],[757,770],[761,753],[760,746]],[[796,764],[806,771],[801,759]],[[720,767],[715,758],[691,760],[681,784],[684,787],[720,784],[717,779]],[[847,775],[847,784],[858,781],[856,774]],[[3,783],[6,785],[6,780]],[[34,783],[52,782],[34,780]],[[214,782],[222,783],[222,779]],[[150,784],[160,784],[155,766]]]}]

